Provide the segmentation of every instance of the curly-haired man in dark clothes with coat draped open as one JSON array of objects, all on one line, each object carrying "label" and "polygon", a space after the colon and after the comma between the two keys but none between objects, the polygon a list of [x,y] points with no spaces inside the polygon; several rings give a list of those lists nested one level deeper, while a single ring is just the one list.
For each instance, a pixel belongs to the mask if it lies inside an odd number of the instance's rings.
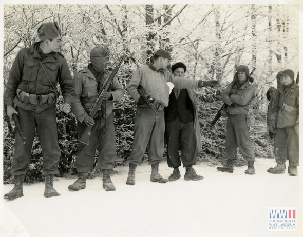
[{"label": "curly-haired man in dark clothes with coat draped open", "polygon": [[[186,66],[176,63],[172,66],[172,73],[184,77]],[[181,160],[186,172],[184,180],[202,180],[197,175],[193,165],[197,164],[197,148],[202,150],[199,118],[193,91],[190,89],[173,88],[169,95],[168,106],[164,108],[165,132],[167,139],[167,164],[174,168],[168,181],[175,181],[181,177],[179,166],[179,147]]]}]

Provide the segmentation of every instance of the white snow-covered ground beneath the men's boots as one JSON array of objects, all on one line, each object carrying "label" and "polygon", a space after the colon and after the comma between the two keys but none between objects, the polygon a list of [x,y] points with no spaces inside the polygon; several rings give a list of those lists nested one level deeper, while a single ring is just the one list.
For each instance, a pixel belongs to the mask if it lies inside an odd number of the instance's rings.
[{"label": "white snow-covered ground beneath the men's boots", "polygon": [[[270,174],[274,160],[256,159],[255,175],[247,167],[222,173],[203,163],[195,166],[202,181],[149,181],[150,166],[137,168],[136,185],[126,185],[128,167],[112,176],[116,191],[106,192],[99,177],[69,191],[75,180],[56,180],[61,196],[44,198],[44,184],[24,185],[24,196],[4,201],[1,236],[303,236],[302,170],[298,176]],[[171,174],[166,161],[160,174]],[[13,185],[4,185],[4,193]],[[297,231],[268,231],[268,207],[297,207]],[[300,225],[301,224],[301,225]],[[301,227],[301,228],[300,228]]]}]

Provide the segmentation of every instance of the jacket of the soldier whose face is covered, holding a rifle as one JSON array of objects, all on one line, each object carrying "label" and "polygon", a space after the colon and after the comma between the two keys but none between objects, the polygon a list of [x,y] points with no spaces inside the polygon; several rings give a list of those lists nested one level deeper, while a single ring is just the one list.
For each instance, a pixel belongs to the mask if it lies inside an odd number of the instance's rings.
[{"label": "jacket of the soldier whose face is covered, holding a rifle", "polygon": [[[104,79],[100,87],[103,88],[106,84],[111,71],[104,72]],[[97,101],[98,88],[97,80],[88,69],[85,67],[73,77],[74,83],[74,101],[71,105],[74,115],[82,123],[85,116],[88,114]],[[112,81],[111,91],[112,100],[104,100],[102,103],[102,112],[106,111],[103,116],[108,117],[113,109],[113,102],[121,100],[124,95],[124,90],[115,76]],[[85,108],[84,108],[85,107]]]}]

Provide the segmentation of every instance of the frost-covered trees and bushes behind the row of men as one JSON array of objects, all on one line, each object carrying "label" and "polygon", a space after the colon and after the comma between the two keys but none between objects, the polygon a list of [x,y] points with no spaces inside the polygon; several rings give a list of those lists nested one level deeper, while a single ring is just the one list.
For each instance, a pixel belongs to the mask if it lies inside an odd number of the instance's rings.
[{"label": "frost-covered trees and bushes behind the row of men", "polygon": [[[62,31],[61,52],[72,75],[89,62],[90,50],[100,44],[110,48],[112,67],[122,54],[127,58],[118,77],[123,88],[131,74],[163,48],[173,63],[187,66],[186,77],[219,80],[217,88],[195,90],[203,151],[199,161],[218,165],[224,160],[226,119],[209,125],[221,107],[222,90],[232,81],[235,66],[256,68],[253,77],[257,98],[253,103],[256,124],[251,127],[256,157],[273,158],[267,130],[266,92],[276,87],[283,69],[298,72],[299,12],[292,5],[4,5],[4,90],[18,50],[39,41],[37,26],[57,21]],[[126,91],[126,90],[125,90]],[[63,102],[59,97],[60,105]],[[58,107],[57,107],[58,109]],[[124,165],[131,151],[136,104],[126,92],[115,103],[117,160]],[[5,116],[5,113],[4,113]],[[75,174],[77,131],[74,115],[58,110],[58,136],[62,150],[60,175]],[[14,136],[4,121],[4,182],[12,181],[10,166]],[[97,154],[98,155],[98,152]],[[42,153],[34,140],[27,182],[41,181]],[[239,155],[238,165],[245,164]],[[99,172],[94,165],[90,175]]]}]

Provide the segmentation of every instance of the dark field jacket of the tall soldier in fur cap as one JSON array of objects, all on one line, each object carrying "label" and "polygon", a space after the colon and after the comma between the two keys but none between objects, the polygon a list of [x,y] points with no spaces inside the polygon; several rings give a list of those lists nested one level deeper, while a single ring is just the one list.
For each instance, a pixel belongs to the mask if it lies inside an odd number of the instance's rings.
[{"label": "dark field jacket of the tall soldier in fur cap", "polygon": [[[40,54],[37,47],[40,42],[35,43],[31,48],[21,49],[13,62],[10,70],[8,82],[5,91],[5,104],[13,105],[13,103],[24,109],[35,111],[37,113],[53,106],[55,100],[51,104],[25,104],[20,101],[16,91],[20,90],[34,95],[47,95],[56,93],[56,84],[59,82],[64,103],[71,105],[73,96],[72,77],[67,62],[61,53],[50,52],[42,61],[44,69],[51,81],[49,82],[45,71],[40,64]],[[53,89],[52,85],[55,89]]]}]

